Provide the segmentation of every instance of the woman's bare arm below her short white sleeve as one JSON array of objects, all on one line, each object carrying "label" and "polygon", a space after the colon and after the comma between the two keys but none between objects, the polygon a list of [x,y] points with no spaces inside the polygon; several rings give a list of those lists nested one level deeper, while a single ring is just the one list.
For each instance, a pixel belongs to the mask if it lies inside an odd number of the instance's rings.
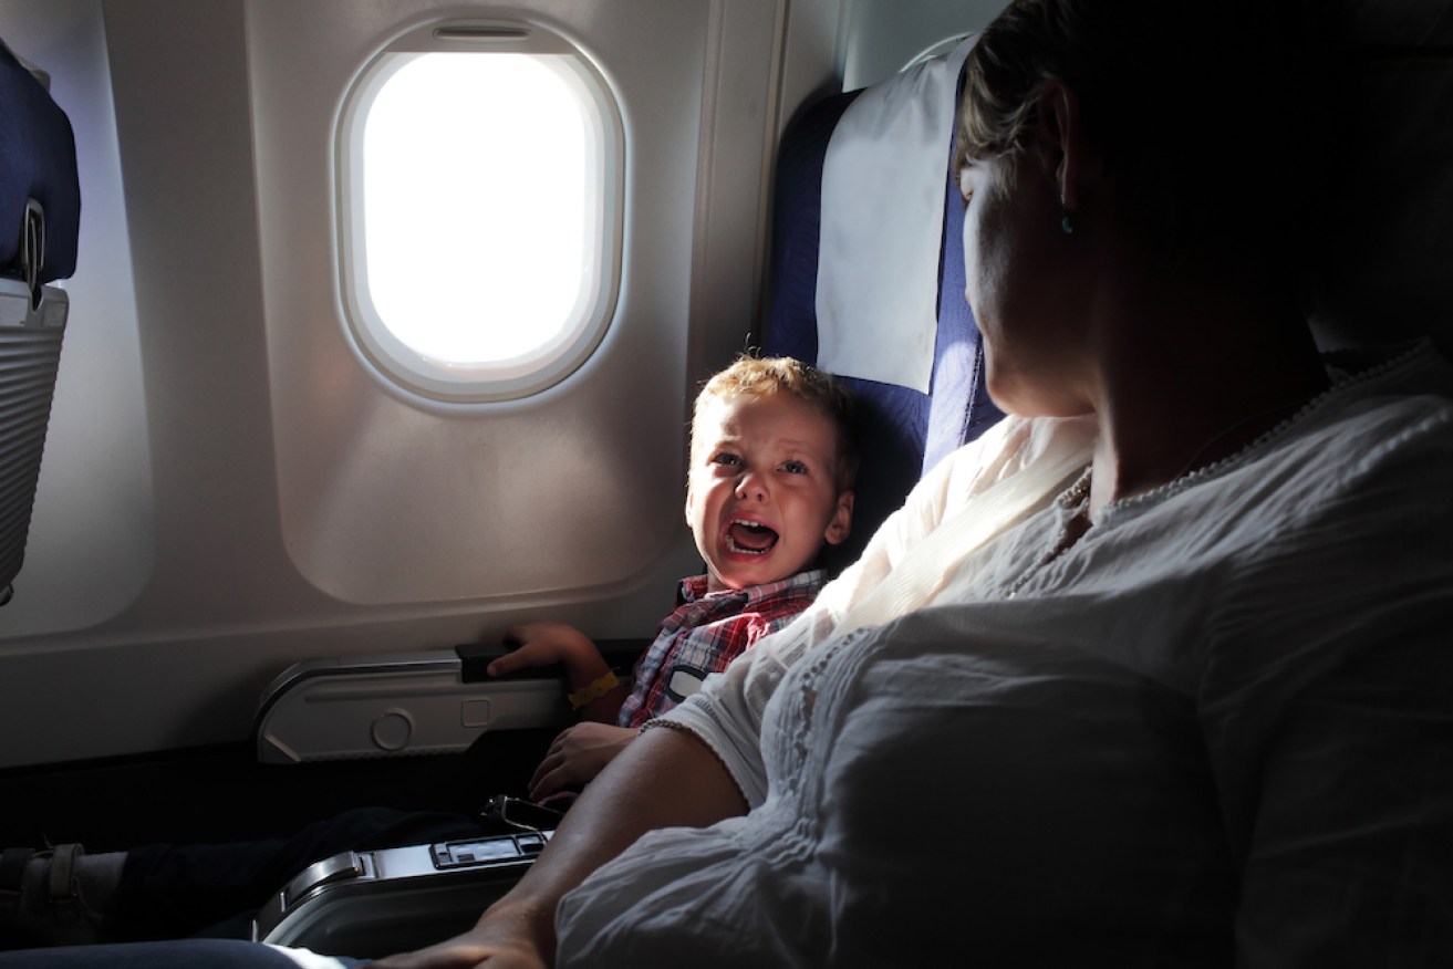
[{"label": "woman's bare arm below her short white sleeve", "polygon": [[586,876],[647,831],[706,827],[745,811],[725,767],[693,734],[647,731],[586,789],[519,885],[491,905],[471,931],[373,965],[549,966],[555,960],[555,907]]}]

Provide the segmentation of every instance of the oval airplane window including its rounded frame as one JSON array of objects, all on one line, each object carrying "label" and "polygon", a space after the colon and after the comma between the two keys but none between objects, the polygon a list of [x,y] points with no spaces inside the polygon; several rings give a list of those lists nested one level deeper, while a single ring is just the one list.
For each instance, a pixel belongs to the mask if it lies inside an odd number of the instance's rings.
[{"label": "oval airplane window including its rounded frame", "polygon": [[346,317],[369,362],[445,401],[574,370],[615,305],[619,128],[600,78],[558,49],[384,52],[339,151]]}]

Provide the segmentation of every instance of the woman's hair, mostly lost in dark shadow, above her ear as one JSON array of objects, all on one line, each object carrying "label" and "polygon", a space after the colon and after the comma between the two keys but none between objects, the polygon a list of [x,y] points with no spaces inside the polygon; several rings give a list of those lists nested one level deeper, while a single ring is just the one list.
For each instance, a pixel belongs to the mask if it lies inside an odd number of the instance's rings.
[{"label": "woman's hair, mostly lost in dark shadow, above her ear", "polygon": [[1016,0],[969,52],[959,160],[1023,151],[1062,81],[1148,253],[1268,259],[1312,187],[1312,49],[1302,0]]}]

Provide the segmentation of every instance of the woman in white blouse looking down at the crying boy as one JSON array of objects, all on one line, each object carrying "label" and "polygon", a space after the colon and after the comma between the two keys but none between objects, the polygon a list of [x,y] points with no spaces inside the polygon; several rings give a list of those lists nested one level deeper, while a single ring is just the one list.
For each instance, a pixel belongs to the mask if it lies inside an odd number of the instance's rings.
[{"label": "woman in white blouse looking down at the crying boy", "polygon": [[1450,963],[1453,370],[1318,359],[1296,74],[1239,6],[985,31],[966,279],[1017,417],[381,966]]}]

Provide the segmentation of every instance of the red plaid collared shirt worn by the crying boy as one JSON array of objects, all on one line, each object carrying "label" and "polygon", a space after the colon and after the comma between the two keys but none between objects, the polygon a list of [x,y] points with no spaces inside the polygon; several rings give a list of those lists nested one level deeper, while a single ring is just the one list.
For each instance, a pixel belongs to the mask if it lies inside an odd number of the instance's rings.
[{"label": "red plaid collared shirt worn by the crying boy", "polygon": [[681,580],[681,604],[661,620],[655,642],[636,661],[631,696],[620,705],[620,726],[641,726],[700,689],[747,646],[782,629],[817,599],[822,569],[721,593],[706,591],[706,577]]}]

